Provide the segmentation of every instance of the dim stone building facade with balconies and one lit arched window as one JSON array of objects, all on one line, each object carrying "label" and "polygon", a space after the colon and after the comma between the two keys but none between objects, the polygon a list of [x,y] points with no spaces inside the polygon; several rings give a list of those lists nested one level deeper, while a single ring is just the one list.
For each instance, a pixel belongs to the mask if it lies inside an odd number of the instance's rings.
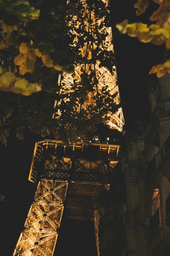
[{"label": "dim stone building facade with balconies and one lit arched window", "polygon": [[136,121],[110,190],[101,195],[101,256],[170,255],[170,75],[149,87],[149,123]]}]

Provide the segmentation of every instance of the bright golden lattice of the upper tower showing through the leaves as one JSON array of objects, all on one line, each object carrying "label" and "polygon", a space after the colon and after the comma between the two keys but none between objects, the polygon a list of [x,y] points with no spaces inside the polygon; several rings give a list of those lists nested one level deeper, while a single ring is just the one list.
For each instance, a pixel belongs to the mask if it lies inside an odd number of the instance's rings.
[{"label": "bright golden lattice of the upper tower showing through the leaves", "polygon": [[[85,18],[85,26],[86,26],[86,31],[88,33],[91,33],[93,35],[93,32],[95,31],[95,17],[94,13],[91,12],[87,7],[86,7],[86,1],[81,0],[84,4],[85,12],[84,12],[84,18]],[[108,1],[104,1],[106,3]],[[86,14],[86,15],[85,15]],[[87,15],[88,14],[88,15]],[[98,24],[100,24],[100,20],[98,20]],[[112,51],[113,50],[113,44],[112,44],[112,31],[111,27],[104,27],[102,28],[102,32],[108,33],[105,39],[104,46],[105,49],[102,50],[107,50],[107,51]],[[81,49],[81,55],[84,58],[91,59],[92,58],[92,51],[95,49],[95,44],[93,42],[86,43],[86,45]],[[120,103],[120,94],[119,94],[119,86],[117,84],[117,73],[116,73],[116,67],[113,67],[114,71],[111,74],[108,69],[105,67],[100,67],[100,61],[96,61],[95,65],[94,64],[81,64],[78,65],[75,68],[75,73],[74,74],[63,74],[63,79],[61,78],[61,75],[59,75],[58,79],[58,84],[61,87],[60,93],[65,94],[65,93],[71,93],[72,92],[72,84],[74,83],[74,80],[76,79],[77,81],[80,81],[80,76],[81,74],[87,73],[88,75],[91,73],[91,70],[95,73],[95,77],[97,78],[97,85],[96,88],[94,88],[94,92],[90,92],[84,103],[80,105],[80,108],[86,109],[88,105],[92,104],[95,105],[96,102],[93,98],[96,97],[97,93],[101,93],[102,88],[108,87],[108,91],[111,95],[115,95],[113,101],[115,104]],[[61,80],[62,79],[62,80]],[[69,100],[66,99],[65,100]],[[59,118],[61,115],[60,111],[60,102],[57,100],[55,101],[54,107],[58,108],[58,112],[56,113],[56,118]],[[79,110],[78,110],[79,111]],[[124,125],[124,117],[123,117],[123,112],[122,108],[120,107],[118,111],[115,113],[108,112],[107,117],[110,118],[109,121],[106,121],[106,124],[109,125],[110,128],[113,129],[118,129],[119,131],[122,132],[122,128]]]}]

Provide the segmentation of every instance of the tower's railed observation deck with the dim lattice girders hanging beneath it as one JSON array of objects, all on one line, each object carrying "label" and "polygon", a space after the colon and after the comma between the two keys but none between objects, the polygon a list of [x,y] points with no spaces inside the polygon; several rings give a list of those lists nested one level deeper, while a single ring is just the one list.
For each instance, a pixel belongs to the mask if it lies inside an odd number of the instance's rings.
[{"label": "tower's railed observation deck with the dim lattice girders hanging beneath it", "polygon": [[37,142],[29,180],[35,184],[39,179],[68,182],[65,217],[94,220],[94,211],[100,209],[99,194],[109,189],[119,148],[107,142]]}]

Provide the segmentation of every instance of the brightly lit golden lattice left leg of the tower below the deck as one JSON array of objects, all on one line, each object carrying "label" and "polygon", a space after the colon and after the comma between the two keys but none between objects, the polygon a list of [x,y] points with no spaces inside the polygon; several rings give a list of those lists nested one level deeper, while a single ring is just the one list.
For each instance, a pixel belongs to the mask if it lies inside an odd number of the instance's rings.
[{"label": "brightly lit golden lattice left leg of the tower below the deck", "polygon": [[13,256],[52,256],[68,181],[41,179]]}]

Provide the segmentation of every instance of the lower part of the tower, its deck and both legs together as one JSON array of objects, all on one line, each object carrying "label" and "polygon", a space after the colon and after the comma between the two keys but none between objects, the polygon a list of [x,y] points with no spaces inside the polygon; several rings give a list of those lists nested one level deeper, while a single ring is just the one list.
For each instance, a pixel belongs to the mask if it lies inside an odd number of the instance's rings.
[{"label": "lower part of the tower, its deck and both legs together", "polygon": [[109,189],[108,173],[118,162],[119,147],[86,142],[65,146],[55,140],[35,144],[29,180],[38,185],[14,256],[53,255],[64,205],[65,218],[94,221],[99,255],[99,194]]}]

